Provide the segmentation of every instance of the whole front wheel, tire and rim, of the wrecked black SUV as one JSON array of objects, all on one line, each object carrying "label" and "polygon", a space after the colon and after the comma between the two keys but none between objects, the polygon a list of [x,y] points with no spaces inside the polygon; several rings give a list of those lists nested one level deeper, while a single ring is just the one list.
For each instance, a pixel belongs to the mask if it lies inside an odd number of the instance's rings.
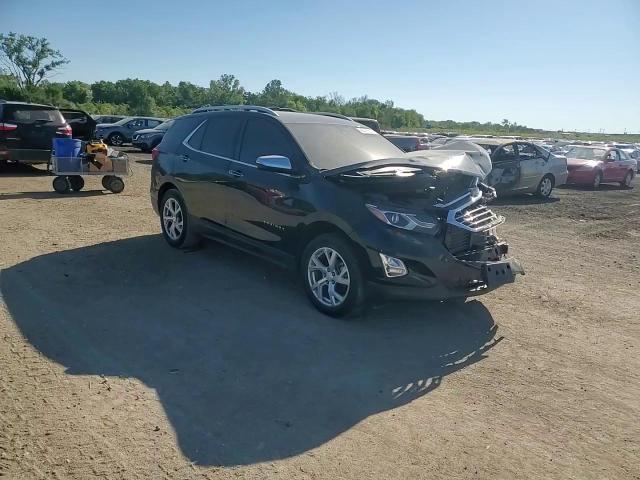
[{"label": "whole front wheel, tire and rim, of the wrecked black SUV", "polygon": [[[333,264],[330,258],[334,259]],[[332,270],[327,272],[323,266]],[[348,240],[340,235],[323,234],[309,242],[300,259],[300,278],[311,303],[326,315],[357,314],[364,306],[366,284],[362,265]],[[314,289],[312,285],[318,282],[322,282],[321,286]]]}]

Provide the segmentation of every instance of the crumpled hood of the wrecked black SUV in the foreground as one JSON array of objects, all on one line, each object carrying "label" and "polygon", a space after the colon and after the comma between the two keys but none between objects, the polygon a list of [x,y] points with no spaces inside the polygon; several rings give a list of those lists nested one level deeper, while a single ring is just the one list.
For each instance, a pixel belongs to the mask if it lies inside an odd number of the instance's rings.
[{"label": "crumpled hood of the wrecked black SUV in the foreground", "polygon": [[478,189],[484,174],[465,153],[374,160],[325,170],[328,180],[361,194],[375,205],[433,208]]}]

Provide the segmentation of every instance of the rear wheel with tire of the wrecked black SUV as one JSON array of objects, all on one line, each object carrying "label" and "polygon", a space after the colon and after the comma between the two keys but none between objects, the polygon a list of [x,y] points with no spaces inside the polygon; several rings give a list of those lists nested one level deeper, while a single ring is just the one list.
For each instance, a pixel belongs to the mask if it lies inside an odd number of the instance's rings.
[{"label": "rear wheel with tire of the wrecked black SUV", "polygon": [[[171,221],[168,217],[173,217],[173,220]],[[182,222],[181,230],[176,224],[180,221]],[[200,236],[193,228],[187,206],[175,189],[167,190],[160,202],[160,227],[162,236],[174,248],[194,248],[200,243]]]}]

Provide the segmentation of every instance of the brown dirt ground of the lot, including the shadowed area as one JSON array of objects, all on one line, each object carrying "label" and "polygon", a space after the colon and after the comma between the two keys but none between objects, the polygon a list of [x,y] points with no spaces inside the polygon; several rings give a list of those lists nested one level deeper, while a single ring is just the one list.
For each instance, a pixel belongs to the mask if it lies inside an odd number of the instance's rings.
[{"label": "brown dirt ground of the lot, including the shadowed area", "polygon": [[500,200],[526,276],[345,322],[120,195],[0,175],[11,479],[639,479],[640,188]]}]

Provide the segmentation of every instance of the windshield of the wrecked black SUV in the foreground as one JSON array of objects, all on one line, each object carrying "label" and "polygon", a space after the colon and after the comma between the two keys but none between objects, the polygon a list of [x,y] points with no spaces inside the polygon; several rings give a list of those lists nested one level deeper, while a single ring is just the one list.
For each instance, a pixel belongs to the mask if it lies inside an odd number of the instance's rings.
[{"label": "windshield of the wrecked black SUV in the foreground", "polygon": [[286,126],[309,163],[320,170],[405,157],[402,150],[368,127],[327,123],[290,123]]}]

